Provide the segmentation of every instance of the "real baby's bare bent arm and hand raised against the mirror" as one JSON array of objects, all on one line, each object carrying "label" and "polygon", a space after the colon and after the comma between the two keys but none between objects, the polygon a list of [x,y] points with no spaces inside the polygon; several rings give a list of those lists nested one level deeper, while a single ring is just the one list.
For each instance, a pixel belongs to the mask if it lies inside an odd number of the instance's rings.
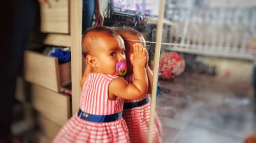
[{"label": "real baby's bare bent arm and hand raised against the mirror", "polygon": [[124,99],[141,99],[147,93],[148,80],[146,70],[144,68],[145,48],[142,44],[134,45],[134,53],[131,56],[131,63],[133,65],[134,81],[128,83],[123,78],[115,78],[109,85],[109,97],[114,99],[115,96]]}]

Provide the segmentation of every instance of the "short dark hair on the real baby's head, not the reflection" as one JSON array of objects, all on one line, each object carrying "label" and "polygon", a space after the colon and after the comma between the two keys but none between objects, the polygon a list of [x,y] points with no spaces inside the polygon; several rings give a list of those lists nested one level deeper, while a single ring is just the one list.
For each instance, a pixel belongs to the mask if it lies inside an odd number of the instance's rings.
[{"label": "short dark hair on the real baby's head, not the reflection", "polygon": [[119,34],[115,32],[112,28],[97,25],[90,29],[88,29],[82,37],[82,54],[84,58],[88,53],[90,53],[90,50],[93,48],[93,44],[96,38],[101,38],[101,35],[109,35],[113,37],[118,37]]}]

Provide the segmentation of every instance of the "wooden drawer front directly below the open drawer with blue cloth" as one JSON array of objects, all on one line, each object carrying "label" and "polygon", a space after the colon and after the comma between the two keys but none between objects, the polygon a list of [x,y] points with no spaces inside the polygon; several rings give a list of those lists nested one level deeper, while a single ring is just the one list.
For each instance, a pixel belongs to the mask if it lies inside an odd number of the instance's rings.
[{"label": "wooden drawer front directly below the open drawer with blue cloth", "polygon": [[32,105],[53,123],[63,126],[70,118],[70,97],[33,84]]}]

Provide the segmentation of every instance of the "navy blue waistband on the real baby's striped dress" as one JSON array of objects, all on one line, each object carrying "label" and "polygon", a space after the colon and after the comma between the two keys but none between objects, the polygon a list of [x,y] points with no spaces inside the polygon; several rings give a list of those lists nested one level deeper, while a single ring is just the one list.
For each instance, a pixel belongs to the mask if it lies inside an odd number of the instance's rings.
[{"label": "navy blue waistband on the real baby's striped dress", "polygon": [[90,121],[90,122],[112,122],[117,121],[122,117],[123,111],[111,114],[111,115],[92,115],[90,113],[83,112],[80,108],[77,116],[80,119]]}]

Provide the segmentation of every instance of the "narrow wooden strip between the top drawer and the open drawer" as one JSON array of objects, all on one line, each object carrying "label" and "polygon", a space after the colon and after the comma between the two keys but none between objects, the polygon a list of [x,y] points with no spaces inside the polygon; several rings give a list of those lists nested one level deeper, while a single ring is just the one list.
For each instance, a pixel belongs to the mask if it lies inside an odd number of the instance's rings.
[{"label": "narrow wooden strip between the top drawer and the open drawer", "polygon": [[44,43],[47,45],[71,47],[71,37],[69,34],[48,34]]}]

